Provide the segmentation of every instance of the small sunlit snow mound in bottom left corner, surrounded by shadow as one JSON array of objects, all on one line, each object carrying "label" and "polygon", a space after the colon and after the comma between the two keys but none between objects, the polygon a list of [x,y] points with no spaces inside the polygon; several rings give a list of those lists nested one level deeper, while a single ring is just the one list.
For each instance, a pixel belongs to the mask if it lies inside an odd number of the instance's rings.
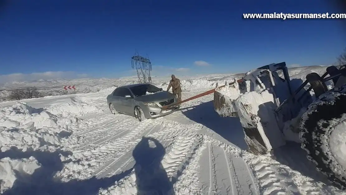
[{"label": "small sunlit snow mound in bottom left corner, surrounded by shadow", "polygon": [[19,175],[21,180],[26,180],[25,183],[30,183],[30,178],[26,176],[32,175],[40,167],[34,157],[15,160],[8,157],[0,159],[0,193],[12,188]]}]

